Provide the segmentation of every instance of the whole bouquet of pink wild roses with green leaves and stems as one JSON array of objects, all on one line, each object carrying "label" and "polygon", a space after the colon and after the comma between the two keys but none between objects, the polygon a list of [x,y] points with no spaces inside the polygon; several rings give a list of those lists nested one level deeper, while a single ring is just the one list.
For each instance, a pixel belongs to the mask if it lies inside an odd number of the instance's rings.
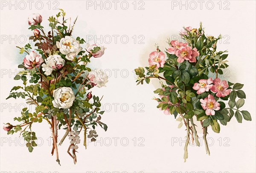
[{"label": "whole bouquet of pink wild roses with green leaves and stems", "polygon": [[[206,153],[210,154],[207,144],[209,127],[220,133],[219,123],[226,126],[233,116],[239,123],[242,119],[251,121],[251,116],[248,111],[241,110],[246,98],[241,90],[244,85],[218,78],[228,67],[227,50],[217,51],[221,35],[206,35],[200,23],[198,29],[184,27],[180,37],[182,42],[169,39],[168,49],[160,50],[157,46],[149,55],[149,66],[139,67],[135,72],[137,84],[149,84],[153,78],[160,80],[161,87],[154,91],[159,98],[154,100],[164,114],[173,115],[180,121],[178,128],[184,124],[186,161],[189,142],[200,146],[197,129],[203,128]],[[194,121],[200,121],[201,127]]]}]

